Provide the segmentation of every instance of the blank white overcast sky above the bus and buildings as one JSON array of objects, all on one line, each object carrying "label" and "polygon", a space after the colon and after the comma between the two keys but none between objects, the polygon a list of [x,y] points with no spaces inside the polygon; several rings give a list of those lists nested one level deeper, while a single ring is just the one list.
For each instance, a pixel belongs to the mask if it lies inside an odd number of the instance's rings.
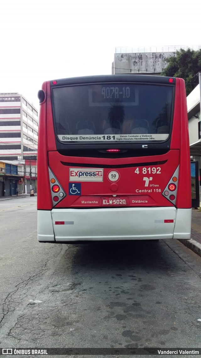
[{"label": "blank white overcast sky above the bus and buildings", "polygon": [[198,0],[2,0],[0,93],[39,108],[44,81],[111,74],[116,47],[201,45],[200,13]]}]

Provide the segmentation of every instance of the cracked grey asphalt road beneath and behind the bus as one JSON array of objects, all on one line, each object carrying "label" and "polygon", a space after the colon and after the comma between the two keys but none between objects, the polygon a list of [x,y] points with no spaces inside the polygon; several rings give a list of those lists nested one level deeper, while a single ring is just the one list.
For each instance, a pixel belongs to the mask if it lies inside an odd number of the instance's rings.
[{"label": "cracked grey asphalt road beneath and behind the bus", "polygon": [[42,244],[36,219],[36,197],[0,201],[0,347],[201,347],[200,257],[174,240]]}]

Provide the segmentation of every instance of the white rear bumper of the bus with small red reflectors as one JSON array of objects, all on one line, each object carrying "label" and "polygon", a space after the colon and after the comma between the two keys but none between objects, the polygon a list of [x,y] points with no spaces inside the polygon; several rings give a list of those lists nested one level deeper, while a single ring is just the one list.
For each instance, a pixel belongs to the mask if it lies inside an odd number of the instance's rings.
[{"label": "white rear bumper of the bus with small red reflectors", "polygon": [[38,241],[190,239],[191,209],[38,210]]}]

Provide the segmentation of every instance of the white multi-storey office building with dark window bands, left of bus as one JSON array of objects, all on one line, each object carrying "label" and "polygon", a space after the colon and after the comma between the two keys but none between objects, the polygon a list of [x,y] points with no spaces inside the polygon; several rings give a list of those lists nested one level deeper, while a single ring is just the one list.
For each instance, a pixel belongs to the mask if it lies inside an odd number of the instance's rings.
[{"label": "white multi-storey office building with dark window bands, left of bus", "polygon": [[0,160],[36,157],[37,148],[37,109],[19,93],[0,93]]}]

